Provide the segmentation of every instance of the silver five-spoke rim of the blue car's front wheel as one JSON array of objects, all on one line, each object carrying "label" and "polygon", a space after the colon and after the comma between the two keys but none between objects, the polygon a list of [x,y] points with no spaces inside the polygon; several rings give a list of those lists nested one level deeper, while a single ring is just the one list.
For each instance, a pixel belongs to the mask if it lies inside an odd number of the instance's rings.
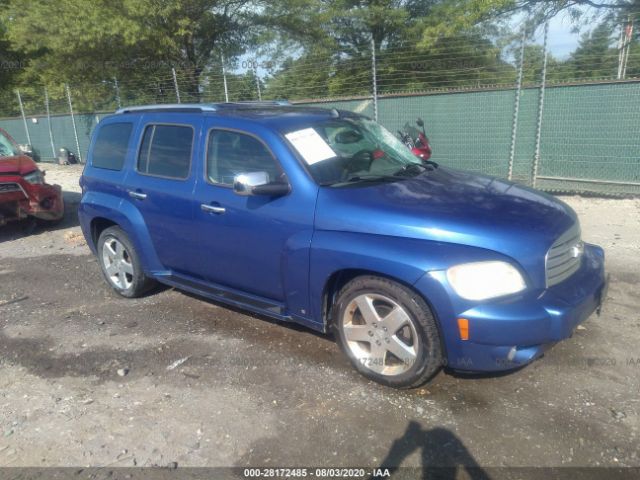
[{"label": "silver five-spoke rim of the blue car's front wheel", "polygon": [[420,339],[411,317],[384,295],[366,293],[351,300],[342,333],[356,361],[380,375],[405,373],[418,357]]}]

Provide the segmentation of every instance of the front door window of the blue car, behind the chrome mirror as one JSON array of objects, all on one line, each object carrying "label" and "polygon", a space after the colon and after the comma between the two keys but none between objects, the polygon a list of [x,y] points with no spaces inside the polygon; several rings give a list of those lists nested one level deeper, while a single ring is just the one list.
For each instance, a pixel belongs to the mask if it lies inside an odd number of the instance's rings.
[{"label": "front door window of the blue car, behind the chrome mirror", "polygon": [[266,172],[270,182],[282,177],[273,155],[260,140],[244,133],[212,130],[207,146],[207,179],[233,185],[235,176],[251,172]]}]

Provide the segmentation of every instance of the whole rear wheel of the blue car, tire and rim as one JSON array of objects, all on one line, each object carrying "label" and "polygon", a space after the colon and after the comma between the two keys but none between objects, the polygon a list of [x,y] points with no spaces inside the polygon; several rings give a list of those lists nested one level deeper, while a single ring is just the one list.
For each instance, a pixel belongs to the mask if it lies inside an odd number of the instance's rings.
[{"label": "whole rear wheel of the blue car, tire and rim", "polygon": [[109,227],[100,234],[98,261],[109,285],[123,297],[139,297],[154,284],[144,274],[131,240],[120,227]]}]

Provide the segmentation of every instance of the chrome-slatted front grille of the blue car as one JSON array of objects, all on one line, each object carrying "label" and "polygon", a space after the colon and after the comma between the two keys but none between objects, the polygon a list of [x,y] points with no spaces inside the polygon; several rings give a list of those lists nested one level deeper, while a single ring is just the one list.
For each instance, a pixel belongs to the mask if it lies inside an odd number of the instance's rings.
[{"label": "chrome-slatted front grille of the blue car", "polygon": [[563,233],[547,252],[547,288],[566,280],[579,268],[584,244],[580,239],[580,224]]}]

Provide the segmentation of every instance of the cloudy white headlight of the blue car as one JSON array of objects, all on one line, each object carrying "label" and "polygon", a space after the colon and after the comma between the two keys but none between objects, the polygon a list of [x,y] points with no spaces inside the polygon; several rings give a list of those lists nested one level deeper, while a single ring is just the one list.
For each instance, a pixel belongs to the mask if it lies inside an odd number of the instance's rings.
[{"label": "cloudy white headlight of the blue car", "polygon": [[500,261],[456,265],[447,270],[447,279],[455,292],[467,300],[502,297],[526,288],[520,272]]}]

